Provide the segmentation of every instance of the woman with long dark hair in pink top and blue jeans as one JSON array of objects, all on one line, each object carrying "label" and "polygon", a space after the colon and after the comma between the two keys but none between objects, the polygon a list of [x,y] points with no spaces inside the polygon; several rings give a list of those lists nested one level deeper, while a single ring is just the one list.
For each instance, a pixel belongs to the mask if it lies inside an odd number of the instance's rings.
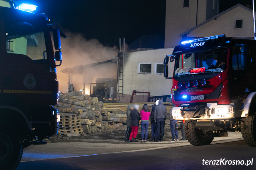
[{"label": "woman with long dark hair in pink top and blue jeans", "polygon": [[[142,110],[140,111],[141,116],[141,142],[147,142],[147,129],[149,126],[149,118],[150,118],[150,110],[148,109],[147,104],[143,105]],[[145,132],[145,140],[144,140],[144,132]]]}]

